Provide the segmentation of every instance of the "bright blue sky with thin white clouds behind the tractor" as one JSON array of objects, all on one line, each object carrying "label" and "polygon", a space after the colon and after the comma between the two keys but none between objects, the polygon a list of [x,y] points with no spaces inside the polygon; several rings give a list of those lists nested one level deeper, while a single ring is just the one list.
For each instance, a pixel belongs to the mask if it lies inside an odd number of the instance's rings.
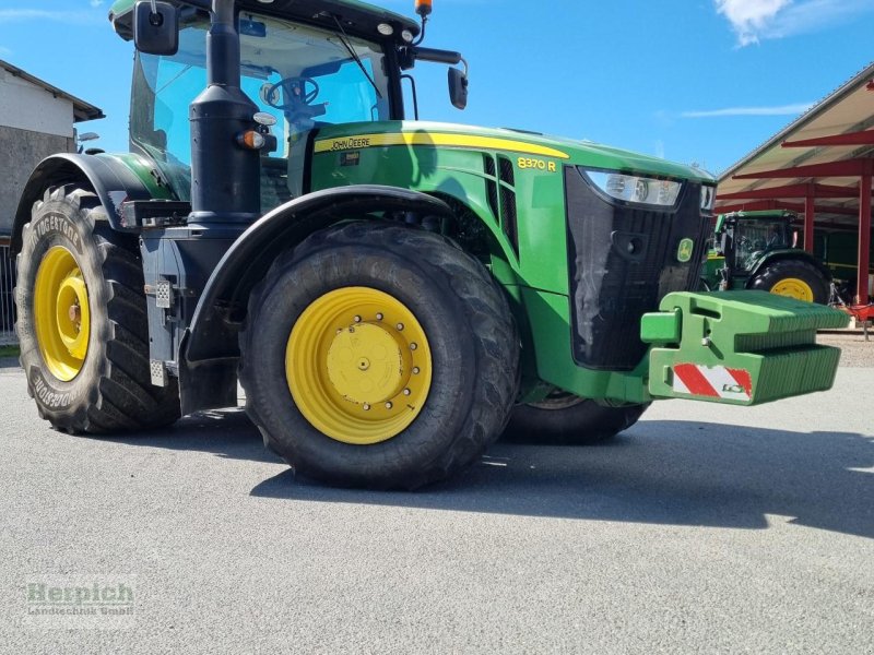
[{"label": "bright blue sky with thin white clouds behind the tractor", "polygon": [[[383,5],[412,14],[413,0]],[[871,0],[436,0],[425,45],[471,64],[468,110],[420,64],[423,118],[512,127],[697,163],[713,172],[872,60]],[[0,59],[104,109],[127,150],[132,45],[108,0],[2,0]],[[874,100],[873,100],[874,102]]]}]

